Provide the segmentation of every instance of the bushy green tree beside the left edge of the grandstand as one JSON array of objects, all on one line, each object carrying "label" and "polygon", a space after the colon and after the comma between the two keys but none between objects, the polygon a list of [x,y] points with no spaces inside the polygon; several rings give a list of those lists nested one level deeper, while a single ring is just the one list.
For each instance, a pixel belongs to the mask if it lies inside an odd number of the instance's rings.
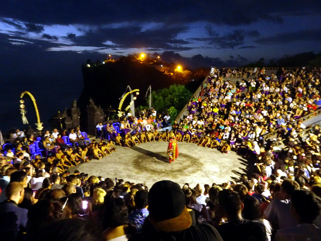
[{"label": "bushy green tree beside the left edge of the grandstand", "polygon": [[191,96],[192,93],[184,85],[170,85],[168,88],[152,92],[152,106],[157,111],[165,111],[172,106],[181,110]]}]

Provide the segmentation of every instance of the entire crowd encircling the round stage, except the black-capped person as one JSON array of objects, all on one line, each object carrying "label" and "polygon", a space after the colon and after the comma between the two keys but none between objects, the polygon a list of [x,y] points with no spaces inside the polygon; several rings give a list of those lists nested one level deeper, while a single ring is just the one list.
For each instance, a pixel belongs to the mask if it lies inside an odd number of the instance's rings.
[{"label": "entire crowd encircling the round stage, except the black-capped person", "polygon": [[[79,127],[46,132],[38,143],[43,157],[30,150],[34,137],[17,130],[15,145],[0,149],[6,155],[0,157],[1,240],[321,240],[321,131],[316,125],[301,135],[302,121],[292,123],[321,106],[318,71],[266,76],[264,68],[215,69],[171,131],[157,131],[169,125],[168,115],[127,114],[119,129],[98,123],[99,142],[88,142]],[[226,77],[244,80],[231,84]],[[262,136],[274,129],[265,143]],[[251,174],[221,184],[160,181],[149,188],[68,171],[116,145],[168,141],[171,132],[178,141],[238,152]]]}]

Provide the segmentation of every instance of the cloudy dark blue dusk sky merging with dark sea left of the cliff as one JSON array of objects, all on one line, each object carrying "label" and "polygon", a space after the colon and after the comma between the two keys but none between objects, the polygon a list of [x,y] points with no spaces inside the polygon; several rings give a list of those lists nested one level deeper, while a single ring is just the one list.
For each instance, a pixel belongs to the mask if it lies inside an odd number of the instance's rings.
[{"label": "cloudy dark blue dusk sky merging with dark sea left of the cliff", "polygon": [[2,0],[0,108],[23,90],[50,94],[50,111],[69,107],[87,59],[157,52],[191,68],[240,66],[318,53],[320,26],[320,1]]}]

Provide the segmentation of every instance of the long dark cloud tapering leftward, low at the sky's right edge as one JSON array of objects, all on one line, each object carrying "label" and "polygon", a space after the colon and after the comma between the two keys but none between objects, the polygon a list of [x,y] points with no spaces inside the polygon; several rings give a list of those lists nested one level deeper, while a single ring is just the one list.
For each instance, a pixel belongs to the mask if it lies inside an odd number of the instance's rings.
[{"label": "long dark cloud tapering leftward, low at the sky's right edge", "polygon": [[273,36],[260,38],[255,40],[256,43],[260,44],[287,44],[294,41],[314,41],[321,42],[321,31],[320,29],[307,29],[296,32],[284,32],[277,33]]}]

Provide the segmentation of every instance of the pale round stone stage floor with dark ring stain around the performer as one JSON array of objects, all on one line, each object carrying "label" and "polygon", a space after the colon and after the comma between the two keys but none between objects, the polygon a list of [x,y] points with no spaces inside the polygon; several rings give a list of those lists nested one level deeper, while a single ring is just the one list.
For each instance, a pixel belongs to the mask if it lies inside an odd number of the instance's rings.
[{"label": "pale round stone stage floor with dark ring stain around the performer", "polygon": [[[193,143],[178,142],[179,156],[168,163],[168,142],[148,142],[134,147],[119,147],[100,160],[91,160],[70,172],[79,170],[104,178],[124,179],[144,183],[149,188],[160,180],[171,180],[179,185],[189,183],[212,184],[239,180],[247,171],[247,161],[236,153],[223,154],[216,149],[199,147]],[[154,158],[155,157],[155,158]]]}]

